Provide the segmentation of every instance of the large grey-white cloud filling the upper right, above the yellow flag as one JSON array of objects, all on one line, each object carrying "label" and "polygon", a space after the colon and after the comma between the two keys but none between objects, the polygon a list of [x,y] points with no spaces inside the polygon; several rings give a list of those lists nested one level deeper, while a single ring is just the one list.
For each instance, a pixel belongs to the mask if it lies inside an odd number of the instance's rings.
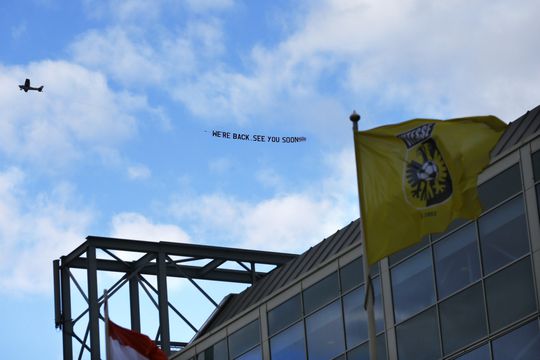
[{"label": "large grey-white cloud filling the upper right, above the yellow flag", "polygon": [[540,97],[539,16],[534,0],[313,2],[281,43],[253,48],[246,72],[218,66],[176,95],[199,116],[219,109],[240,122],[287,100],[320,97],[512,120]]}]

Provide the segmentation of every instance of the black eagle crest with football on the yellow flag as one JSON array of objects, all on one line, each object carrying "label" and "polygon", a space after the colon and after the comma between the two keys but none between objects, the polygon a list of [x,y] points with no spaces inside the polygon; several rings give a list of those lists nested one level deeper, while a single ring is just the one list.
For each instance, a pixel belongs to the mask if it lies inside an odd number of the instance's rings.
[{"label": "black eagle crest with football on the yellow flag", "polygon": [[434,127],[428,123],[397,136],[407,147],[403,193],[415,209],[441,204],[452,196],[450,171],[431,136]]}]

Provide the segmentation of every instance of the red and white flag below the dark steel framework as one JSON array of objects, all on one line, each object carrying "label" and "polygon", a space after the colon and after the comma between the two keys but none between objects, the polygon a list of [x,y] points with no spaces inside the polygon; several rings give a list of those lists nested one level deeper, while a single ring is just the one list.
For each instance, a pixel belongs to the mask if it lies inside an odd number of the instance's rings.
[{"label": "red and white flag below the dark steel framework", "polygon": [[146,335],[116,325],[108,326],[108,360],[167,360],[167,355]]}]

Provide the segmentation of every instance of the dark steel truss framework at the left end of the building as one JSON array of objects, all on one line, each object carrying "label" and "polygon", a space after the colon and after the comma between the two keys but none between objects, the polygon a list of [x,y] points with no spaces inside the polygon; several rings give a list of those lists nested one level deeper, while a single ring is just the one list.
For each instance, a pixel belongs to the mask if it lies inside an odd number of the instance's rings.
[{"label": "dark steel truss framework at the left end of the building", "polygon": [[[125,257],[127,253],[136,254],[138,259],[122,260],[122,256]],[[80,344],[79,359],[85,351],[90,353],[92,360],[100,359],[99,321],[103,320],[100,307],[104,297],[98,294],[99,271],[123,274],[120,280],[108,289],[108,296],[113,296],[124,285],[129,287],[131,329],[138,332],[141,328],[139,289],[144,290],[158,309],[159,328],[155,341],[170,355],[172,348],[181,349],[187,342],[171,341],[169,310],[176,313],[194,333],[198,329],[169,301],[167,278],[187,279],[217,308],[218,303],[195,280],[253,284],[266,274],[264,271],[256,271],[257,265],[280,266],[296,256],[216,246],[89,236],[71,253],[53,261],[55,325],[62,330],[64,360],[73,359],[73,339]],[[236,269],[220,268],[227,262],[239,266]],[[86,270],[86,291],[77,281],[72,269]],[[157,278],[157,289],[145,275]],[[75,318],[72,316],[72,284],[88,304]],[[86,316],[88,325],[84,335],[80,336],[74,327]]]}]

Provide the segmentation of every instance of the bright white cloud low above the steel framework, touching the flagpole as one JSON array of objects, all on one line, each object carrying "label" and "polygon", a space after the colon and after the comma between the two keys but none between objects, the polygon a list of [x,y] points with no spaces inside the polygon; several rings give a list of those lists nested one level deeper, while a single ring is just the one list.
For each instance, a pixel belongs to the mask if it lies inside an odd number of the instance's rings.
[{"label": "bright white cloud low above the steel framework, touching the flagpole", "polygon": [[301,252],[358,217],[352,151],[329,154],[324,165],[330,175],[302,191],[251,202],[219,193],[178,196],[170,212],[202,243]]}]

